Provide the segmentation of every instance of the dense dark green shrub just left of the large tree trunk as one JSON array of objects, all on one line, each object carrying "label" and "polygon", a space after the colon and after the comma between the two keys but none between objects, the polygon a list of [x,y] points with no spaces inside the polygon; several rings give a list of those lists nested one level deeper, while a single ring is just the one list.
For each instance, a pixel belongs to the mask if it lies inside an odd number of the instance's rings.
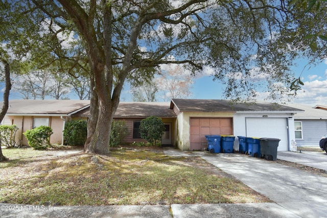
[{"label": "dense dark green shrub just left of the large tree trunk", "polygon": [[68,146],[83,146],[87,138],[87,122],[78,119],[65,123],[63,130],[64,144]]}]

